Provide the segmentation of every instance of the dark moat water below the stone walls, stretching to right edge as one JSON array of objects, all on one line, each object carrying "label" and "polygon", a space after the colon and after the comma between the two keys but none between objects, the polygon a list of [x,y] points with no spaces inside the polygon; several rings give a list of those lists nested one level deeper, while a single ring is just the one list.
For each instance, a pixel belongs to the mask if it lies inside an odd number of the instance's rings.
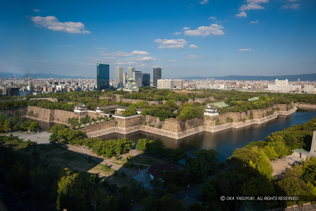
[{"label": "dark moat water below the stone walls, stretching to right edge", "polygon": [[287,117],[278,117],[274,120],[262,124],[249,125],[240,128],[228,128],[215,133],[201,132],[182,139],[173,139],[162,135],[146,132],[135,132],[128,134],[112,133],[102,135],[102,140],[121,139],[126,137],[137,143],[139,139],[163,141],[165,147],[182,148],[191,156],[192,152],[200,149],[214,149],[218,152],[219,161],[222,162],[229,158],[235,149],[246,146],[252,141],[264,140],[268,135],[275,131],[295,124],[302,124],[316,116],[316,109],[298,109],[294,114]]}]

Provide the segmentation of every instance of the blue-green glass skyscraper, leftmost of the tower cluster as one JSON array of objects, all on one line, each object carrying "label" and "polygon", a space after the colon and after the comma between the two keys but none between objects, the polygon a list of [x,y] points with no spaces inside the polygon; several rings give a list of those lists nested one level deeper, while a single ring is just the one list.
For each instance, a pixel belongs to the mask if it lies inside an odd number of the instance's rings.
[{"label": "blue-green glass skyscraper, leftmost of the tower cluster", "polygon": [[97,91],[110,89],[110,65],[97,64]]}]

